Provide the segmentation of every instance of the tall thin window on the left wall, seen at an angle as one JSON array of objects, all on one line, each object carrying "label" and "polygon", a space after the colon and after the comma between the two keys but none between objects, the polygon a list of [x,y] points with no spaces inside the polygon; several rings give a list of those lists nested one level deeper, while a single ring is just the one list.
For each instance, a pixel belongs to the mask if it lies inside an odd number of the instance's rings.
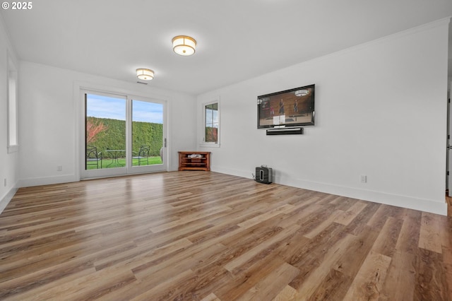
[{"label": "tall thin window on the left wall, seen at an angle", "polygon": [[17,71],[8,58],[8,153],[18,151]]}]

